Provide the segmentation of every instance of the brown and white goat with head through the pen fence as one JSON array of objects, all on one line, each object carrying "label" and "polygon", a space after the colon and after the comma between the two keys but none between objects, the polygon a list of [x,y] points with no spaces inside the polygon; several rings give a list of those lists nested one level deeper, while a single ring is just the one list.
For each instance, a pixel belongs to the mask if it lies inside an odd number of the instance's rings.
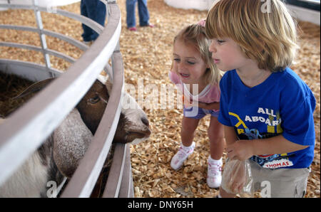
[{"label": "brown and white goat with head through the pen fence", "polygon": [[[51,80],[31,85],[21,96],[43,88]],[[48,181],[61,184],[64,177],[71,178],[101,121],[111,87],[106,78],[98,77],[51,136],[0,185],[0,197],[46,197]],[[136,109],[122,107],[113,142],[138,144],[148,139],[151,130],[145,112],[133,97],[123,93],[123,101],[128,100],[136,104]],[[4,121],[0,119],[0,124]]]}]

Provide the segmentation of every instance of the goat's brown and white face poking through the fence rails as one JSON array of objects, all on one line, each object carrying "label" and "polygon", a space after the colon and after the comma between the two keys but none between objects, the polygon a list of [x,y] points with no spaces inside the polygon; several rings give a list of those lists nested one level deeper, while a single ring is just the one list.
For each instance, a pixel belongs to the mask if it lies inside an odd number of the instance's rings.
[{"label": "goat's brown and white face poking through the fence rails", "polygon": [[[111,83],[106,78],[98,78],[91,89],[81,99],[77,105],[77,109],[81,114],[83,122],[88,129],[95,134],[103,112],[105,111],[109,100],[108,93],[111,92]],[[138,144],[148,139],[151,134],[149,122],[146,113],[143,112],[133,97],[127,93],[123,93],[123,102],[132,103],[131,108],[122,107],[121,115],[116,129],[114,142]]]}]

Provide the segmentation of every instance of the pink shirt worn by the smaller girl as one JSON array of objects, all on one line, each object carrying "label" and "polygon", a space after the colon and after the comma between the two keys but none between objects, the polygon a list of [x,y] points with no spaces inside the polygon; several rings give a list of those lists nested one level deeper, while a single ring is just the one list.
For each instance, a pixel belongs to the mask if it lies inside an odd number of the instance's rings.
[{"label": "pink shirt worn by the smaller girl", "polygon": [[[186,97],[190,97],[190,100],[204,103],[220,102],[220,89],[218,88],[218,85],[206,85],[206,87],[199,92],[198,95],[192,95],[188,89],[188,86],[180,80],[180,77],[176,73],[170,71],[168,75],[170,80],[175,83],[178,89],[183,92]],[[218,110],[214,111],[216,112]]]}]

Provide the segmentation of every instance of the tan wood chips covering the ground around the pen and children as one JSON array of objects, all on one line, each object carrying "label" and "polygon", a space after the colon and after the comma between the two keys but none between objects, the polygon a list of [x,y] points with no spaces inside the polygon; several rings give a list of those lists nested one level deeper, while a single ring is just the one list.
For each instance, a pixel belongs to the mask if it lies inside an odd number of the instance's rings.
[{"label": "tan wood chips covering the ground around the pen and children", "polygon": [[[185,161],[182,169],[174,171],[170,168],[170,159],[180,145],[180,124],[182,110],[167,102],[161,109],[157,97],[163,85],[170,86],[168,70],[172,60],[172,43],[175,34],[190,23],[196,23],[205,18],[206,11],[174,9],[161,0],[148,1],[151,23],[155,28],[139,27],[138,31],[126,29],[125,0],[117,1],[121,9],[121,53],[125,69],[126,83],[136,88],[145,86],[144,99],[149,104],[143,104],[151,123],[153,134],[148,141],[131,146],[131,164],[133,167],[133,184],[136,197],[213,197],[217,189],[210,189],[206,184],[208,138],[208,117],[201,120],[195,132],[195,152]],[[80,14],[80,4],[63,6],[61,9]],[[56,14],[41,13],[44,28],[64,33],[82,41],[81,23],[71,18]],[[138,21],[138,14],[136,14]],[[0,11],[1,24],[20,26],[36,26],[33,11],[8,10]],[[315,159],[312,162],[312,172],[307,183],[305,197],[320,198],[320,26],[300,22],[300,50],[297,53],[292,69],[310,86],[317,99],[315,118]],[[0,29],[0,41],[26,43],[41,46],[36,33]],[[73,58],[79,58],[82,51],[56,38],[47,36],[49,48]],[[33,61],[44,64],[41,53],[19,50],[0,46],[0,58]],[[52,66],[66,70],[71,64],[51,57]],[[146,86],[149,88],[147,89]],[[153,93],[154,91],[154,93]],[[154,97],[154,98],[153,98]],[[149,98],[149,99],[148,99]],[[154,101],[153,104],[151,104]],[[175,103],[175,101],[173,101]],[[172,102],[172,103],[173,103]],[[153,105],[153,107],[151,107]],[[158,109],[156,109],[158,108]],[[224,154],[224,159],[225,159]],[[255,196],[259,196],[256,194]]]}]

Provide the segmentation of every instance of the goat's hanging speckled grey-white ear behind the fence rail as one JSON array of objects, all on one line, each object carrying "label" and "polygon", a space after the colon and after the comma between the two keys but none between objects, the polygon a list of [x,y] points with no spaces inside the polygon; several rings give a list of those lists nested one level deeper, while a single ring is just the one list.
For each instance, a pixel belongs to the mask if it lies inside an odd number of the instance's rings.
[{"label": "goat's hanging speckled grey-white ear behind the fence rail", "polygon": [[54,131],[54,161],[63,176],[71,178],[91,143],[93,134],[73,109]]}]

